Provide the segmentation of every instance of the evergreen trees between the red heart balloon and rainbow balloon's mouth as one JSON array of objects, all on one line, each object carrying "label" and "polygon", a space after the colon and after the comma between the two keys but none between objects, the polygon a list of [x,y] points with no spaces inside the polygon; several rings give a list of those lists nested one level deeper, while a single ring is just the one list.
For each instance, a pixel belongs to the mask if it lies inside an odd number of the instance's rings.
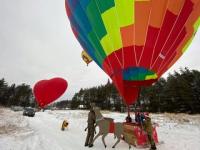
[{"label": "evergreen trees between the red heart balloon and rainbow balloon's mouth", "polygon": [[90,102],[95,102],[101,109],[120,110],[123,105],[122,98],[116,88],[108,80],[106,85],[81,89],[72,98],[71,107],[78,108],[80,105],[90,108]]}]

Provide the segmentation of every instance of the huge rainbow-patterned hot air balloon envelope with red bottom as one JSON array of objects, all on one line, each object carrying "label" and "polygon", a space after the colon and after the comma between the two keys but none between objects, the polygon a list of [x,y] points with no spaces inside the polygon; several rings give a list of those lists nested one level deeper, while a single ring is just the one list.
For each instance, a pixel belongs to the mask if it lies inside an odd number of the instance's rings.
[{"label": "huge rainbow-patterned hot air balloon envelope with red bottom", "polygon": [[66,0],[72,31],[127,105],[185,52],[200,0]]}]

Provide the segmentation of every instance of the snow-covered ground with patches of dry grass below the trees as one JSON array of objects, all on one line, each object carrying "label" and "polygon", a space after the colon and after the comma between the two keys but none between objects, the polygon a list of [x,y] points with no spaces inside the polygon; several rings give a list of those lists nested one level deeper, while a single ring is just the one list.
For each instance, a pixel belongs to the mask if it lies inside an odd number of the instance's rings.
[{"label": "snow-covered ground with patches of dry grass below the trees", "polygon": [[[104,116],[123,122],[125,113],[102,112]],[[22,112],[13,112],[0,108],[0,150],[86,150],[104,149],[101,138],[94,147],[84,147],[88,111],[63,110],[37,112],[35,117],[24,117]],[[61,131],[64,119],[69,122],[68,130]],[[157,128],[158,150],[199,150],[200,115],[153,114],[152,120],[159,124]],[[106,149],[112,149],[115,143],[112,134],[105,141]],[[121,140],[116,150],[128,150]],[[138,150],[141,148],[131,149]],[[148,148],[144,148],[147,150]]]}]

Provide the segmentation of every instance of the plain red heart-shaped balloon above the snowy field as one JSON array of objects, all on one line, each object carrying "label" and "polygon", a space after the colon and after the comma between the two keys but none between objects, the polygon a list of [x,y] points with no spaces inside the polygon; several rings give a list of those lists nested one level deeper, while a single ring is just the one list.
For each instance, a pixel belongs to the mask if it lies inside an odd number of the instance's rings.
[{"label": "plain red heart-shaped balloon above the snowy field", "polygon": [[58,99],[65,92],[67,86],[67,81],[62,78],[41,80],[35,84],[33,93],[39,106],[43,108]]}]

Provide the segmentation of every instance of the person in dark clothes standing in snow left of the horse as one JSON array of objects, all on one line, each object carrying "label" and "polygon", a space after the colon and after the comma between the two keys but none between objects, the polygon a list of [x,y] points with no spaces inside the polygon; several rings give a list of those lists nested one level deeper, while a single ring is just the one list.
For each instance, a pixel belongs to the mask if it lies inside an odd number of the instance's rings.
[{"label": "person in dark clothes standing in snow left of the horse", "polygon": [[85,131],[88,130],[87,137],[85,140],[85,146],[92,147],[93,146],[93,138],[95,133],[95,122],[96,122],[96,116],[95,112],[93,110],[94,104],[90,104],[90,111],[88,113],[88,120],[87,120],[87,128],[85,128]]}]

